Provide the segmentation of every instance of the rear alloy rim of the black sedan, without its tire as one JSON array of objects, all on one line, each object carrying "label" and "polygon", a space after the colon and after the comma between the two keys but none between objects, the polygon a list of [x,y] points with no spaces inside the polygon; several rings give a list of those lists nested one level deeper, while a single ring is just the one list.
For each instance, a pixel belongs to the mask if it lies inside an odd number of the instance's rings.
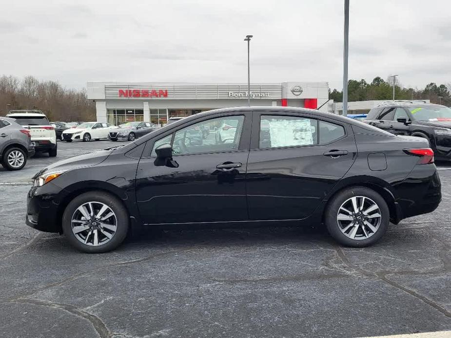
[{"label": "rear alloy rim of the black sedan, without its tire", "polygon": [[337,224],[341,232],[352,240],[366,240],[379,229],[382,216],[379,206],[365,196],[347,199],[337,213]]}]

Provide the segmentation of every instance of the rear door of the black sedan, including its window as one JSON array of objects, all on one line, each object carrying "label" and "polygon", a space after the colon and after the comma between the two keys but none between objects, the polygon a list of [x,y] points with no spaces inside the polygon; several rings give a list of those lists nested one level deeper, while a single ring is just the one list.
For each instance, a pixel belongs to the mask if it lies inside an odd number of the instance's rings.
[{"label": "rear door of the black sedan, including its window", "polygon": [[312,114],[254,115],[246,192],[251,220],[308,217],[351,168],[350,125]]}]

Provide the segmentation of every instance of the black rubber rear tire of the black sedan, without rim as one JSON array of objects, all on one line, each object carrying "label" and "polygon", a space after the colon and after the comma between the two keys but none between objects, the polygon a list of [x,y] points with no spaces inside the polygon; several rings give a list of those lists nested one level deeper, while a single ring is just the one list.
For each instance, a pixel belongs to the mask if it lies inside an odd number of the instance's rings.
[{"label": "black rubber rear tire of the black sedan, without rim", "polygon": [[[339,208],[343,203],[345,203],[345,201],[354,196],[369,198],[370,200],[374,201],[374,203],[379,207],[380,210],[381,217],[379,227],[372,236],[366,239],[351,239],[343,234],[343,232],[340,230],[340,226],[338,225],[337,215]],[[333,196],[326,209],[324,210],[324,213],[325,225],[333,239],[335,239],[335,241],[340,244],[352,247],[364,247],[376,243],[384,235],[385,231],[387,231],[390,223],[390,210],[384,198],[374,190],[366,187],[352,187],[341,190],[335,196]]]}]

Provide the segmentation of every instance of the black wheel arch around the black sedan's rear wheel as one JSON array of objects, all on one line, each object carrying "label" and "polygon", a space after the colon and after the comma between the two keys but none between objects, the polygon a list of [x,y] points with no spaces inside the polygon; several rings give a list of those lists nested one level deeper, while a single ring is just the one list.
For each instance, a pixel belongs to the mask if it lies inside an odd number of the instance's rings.
[{"label": "black wheel arch around the black sedan's rear wheel", "polygon": [[[363,178],[363,179],[362,179]],[[323,211],[322,211],[322,217],[321,221],[324,223],[324,217],[326,215],[327,209],[329,204],[331,203],[331,200],[333,197],[335,197],[339,192],[343,191],[347,188],[352,187],[365,187],[370,188],[373,191],[377,192],[381,197],[384,199],[385,203],[387,203],[387,206],[389,207],[390,211],[390,222],[393,224],[398,224],[400,221],[400,215],[396,208],[395,203],[395,197],[390,190],[390,185],[385,182],[384,180],[375,178],[375,177],[353,177],[352,179],[345,179],[344,181],[340,182],[339,186],[335,187],[333,189],[333,192],[329,194],[326,204],[324,205]]]}]

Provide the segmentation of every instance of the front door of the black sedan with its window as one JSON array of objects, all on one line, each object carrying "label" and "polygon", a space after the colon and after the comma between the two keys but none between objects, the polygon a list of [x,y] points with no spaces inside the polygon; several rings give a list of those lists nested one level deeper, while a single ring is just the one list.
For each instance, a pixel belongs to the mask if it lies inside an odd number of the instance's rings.
[{"label": "front door of the black sedan with its window", "polygon": [[[214,132],[202,137],[202,129],[215,131],[225,118],[237,122],[233,138],[217,142]],[[250,115],[229,113],[196,121],[146,145],[136,177],[137,204],[145,224],[248,219],[245,174],[250,130],[245,126],[250,125]],[[165,143],[173,147],[176,168],[156,161],[155,149]]]}]

